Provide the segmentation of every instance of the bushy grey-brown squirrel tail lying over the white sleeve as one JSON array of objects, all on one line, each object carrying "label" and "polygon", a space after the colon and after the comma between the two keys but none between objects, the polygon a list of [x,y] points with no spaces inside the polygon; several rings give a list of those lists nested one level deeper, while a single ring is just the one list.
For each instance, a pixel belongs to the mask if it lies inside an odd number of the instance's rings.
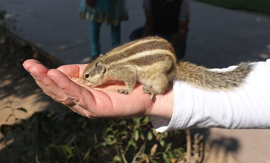
[{"label": "bushy grey-brown squirrel tail lying over the white sleeve", "polygon": [[192,86],[207,90],[233,90],[245,82],[253,65],[241,63],[229,71],[214,71],[188,62],[179,62],[177,77]]}]

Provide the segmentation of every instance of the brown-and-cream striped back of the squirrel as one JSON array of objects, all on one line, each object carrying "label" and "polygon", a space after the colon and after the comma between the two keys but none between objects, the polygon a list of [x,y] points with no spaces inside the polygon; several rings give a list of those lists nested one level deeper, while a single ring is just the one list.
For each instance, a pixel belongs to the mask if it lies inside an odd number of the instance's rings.
[{"label": "brown-and-cream striped back of the squirrel", "polygon": [[104,65],[121,63],[146,66],[168,57],[177,61],[173,46],[166,39],[153,36],[116,47],[98,57],[95,62],[102,62]]}]

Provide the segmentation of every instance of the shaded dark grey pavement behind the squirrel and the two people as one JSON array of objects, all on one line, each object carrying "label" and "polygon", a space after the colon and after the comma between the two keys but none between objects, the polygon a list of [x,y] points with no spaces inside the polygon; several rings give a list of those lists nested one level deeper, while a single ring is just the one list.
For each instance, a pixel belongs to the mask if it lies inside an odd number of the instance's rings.
[{"label": "shaded dark grey pavement behind the squirrel and the two people", "polygon": [[[269,2],[222,2],[228,4],[208,1],[237,10],[190,1],[191,17],[184,60],[210,68],[222,68],[240,61],[264,61],[269,58],[269,17],[260,14],[267,14]],[[24,39],[66,64],[88,63],[91,60],[89,21],[78,18],[79,1],[2,0],[1,4],[2,9],[8,12],[7,17],[18,14],[17,27],[23,30]],[[142,1],[127,1],[127,6],[129,20],[122,22],[122,43],[128,42],[131,32],[145,22]],[[111,49],[108,36],[110,28],[102,24],[101,53]]]}]

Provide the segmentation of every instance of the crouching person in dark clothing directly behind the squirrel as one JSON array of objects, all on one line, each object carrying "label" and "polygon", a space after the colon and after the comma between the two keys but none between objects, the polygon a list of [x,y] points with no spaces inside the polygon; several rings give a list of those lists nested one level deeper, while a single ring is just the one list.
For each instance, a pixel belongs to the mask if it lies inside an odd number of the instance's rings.
[{"label": "crouching person in dark clothing directly behind the squirrel", "polygon": [[188,0],[144,0],[146,22],[134,30],[130,40],[149,35],[168,39],[174,46],[177,58],[184,57],[190,18]]}]

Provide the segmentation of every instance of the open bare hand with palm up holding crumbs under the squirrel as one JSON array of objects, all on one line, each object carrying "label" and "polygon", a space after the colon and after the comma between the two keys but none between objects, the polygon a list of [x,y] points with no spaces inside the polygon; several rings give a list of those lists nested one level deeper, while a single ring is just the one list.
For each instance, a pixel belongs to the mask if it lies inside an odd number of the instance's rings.
[{"label": "open bare hand with palm up holding crumbs under the squirrel", "polygon": [[[36,60],[27,60],[24,68],[38,86],[52,99],[67,105],[74,112],[88,118],[131,118],[160,116],[172,118],[174,93],[157,94],[153,100],[144,94],[142,84],[137,84],[129,94],[118,93],[123,83],[110,83],[97,88],[85,88],[69,79],[82,78],[87,65],[65,65],[48,69]],[[73,103],[74,106],[71,106]]]}]

